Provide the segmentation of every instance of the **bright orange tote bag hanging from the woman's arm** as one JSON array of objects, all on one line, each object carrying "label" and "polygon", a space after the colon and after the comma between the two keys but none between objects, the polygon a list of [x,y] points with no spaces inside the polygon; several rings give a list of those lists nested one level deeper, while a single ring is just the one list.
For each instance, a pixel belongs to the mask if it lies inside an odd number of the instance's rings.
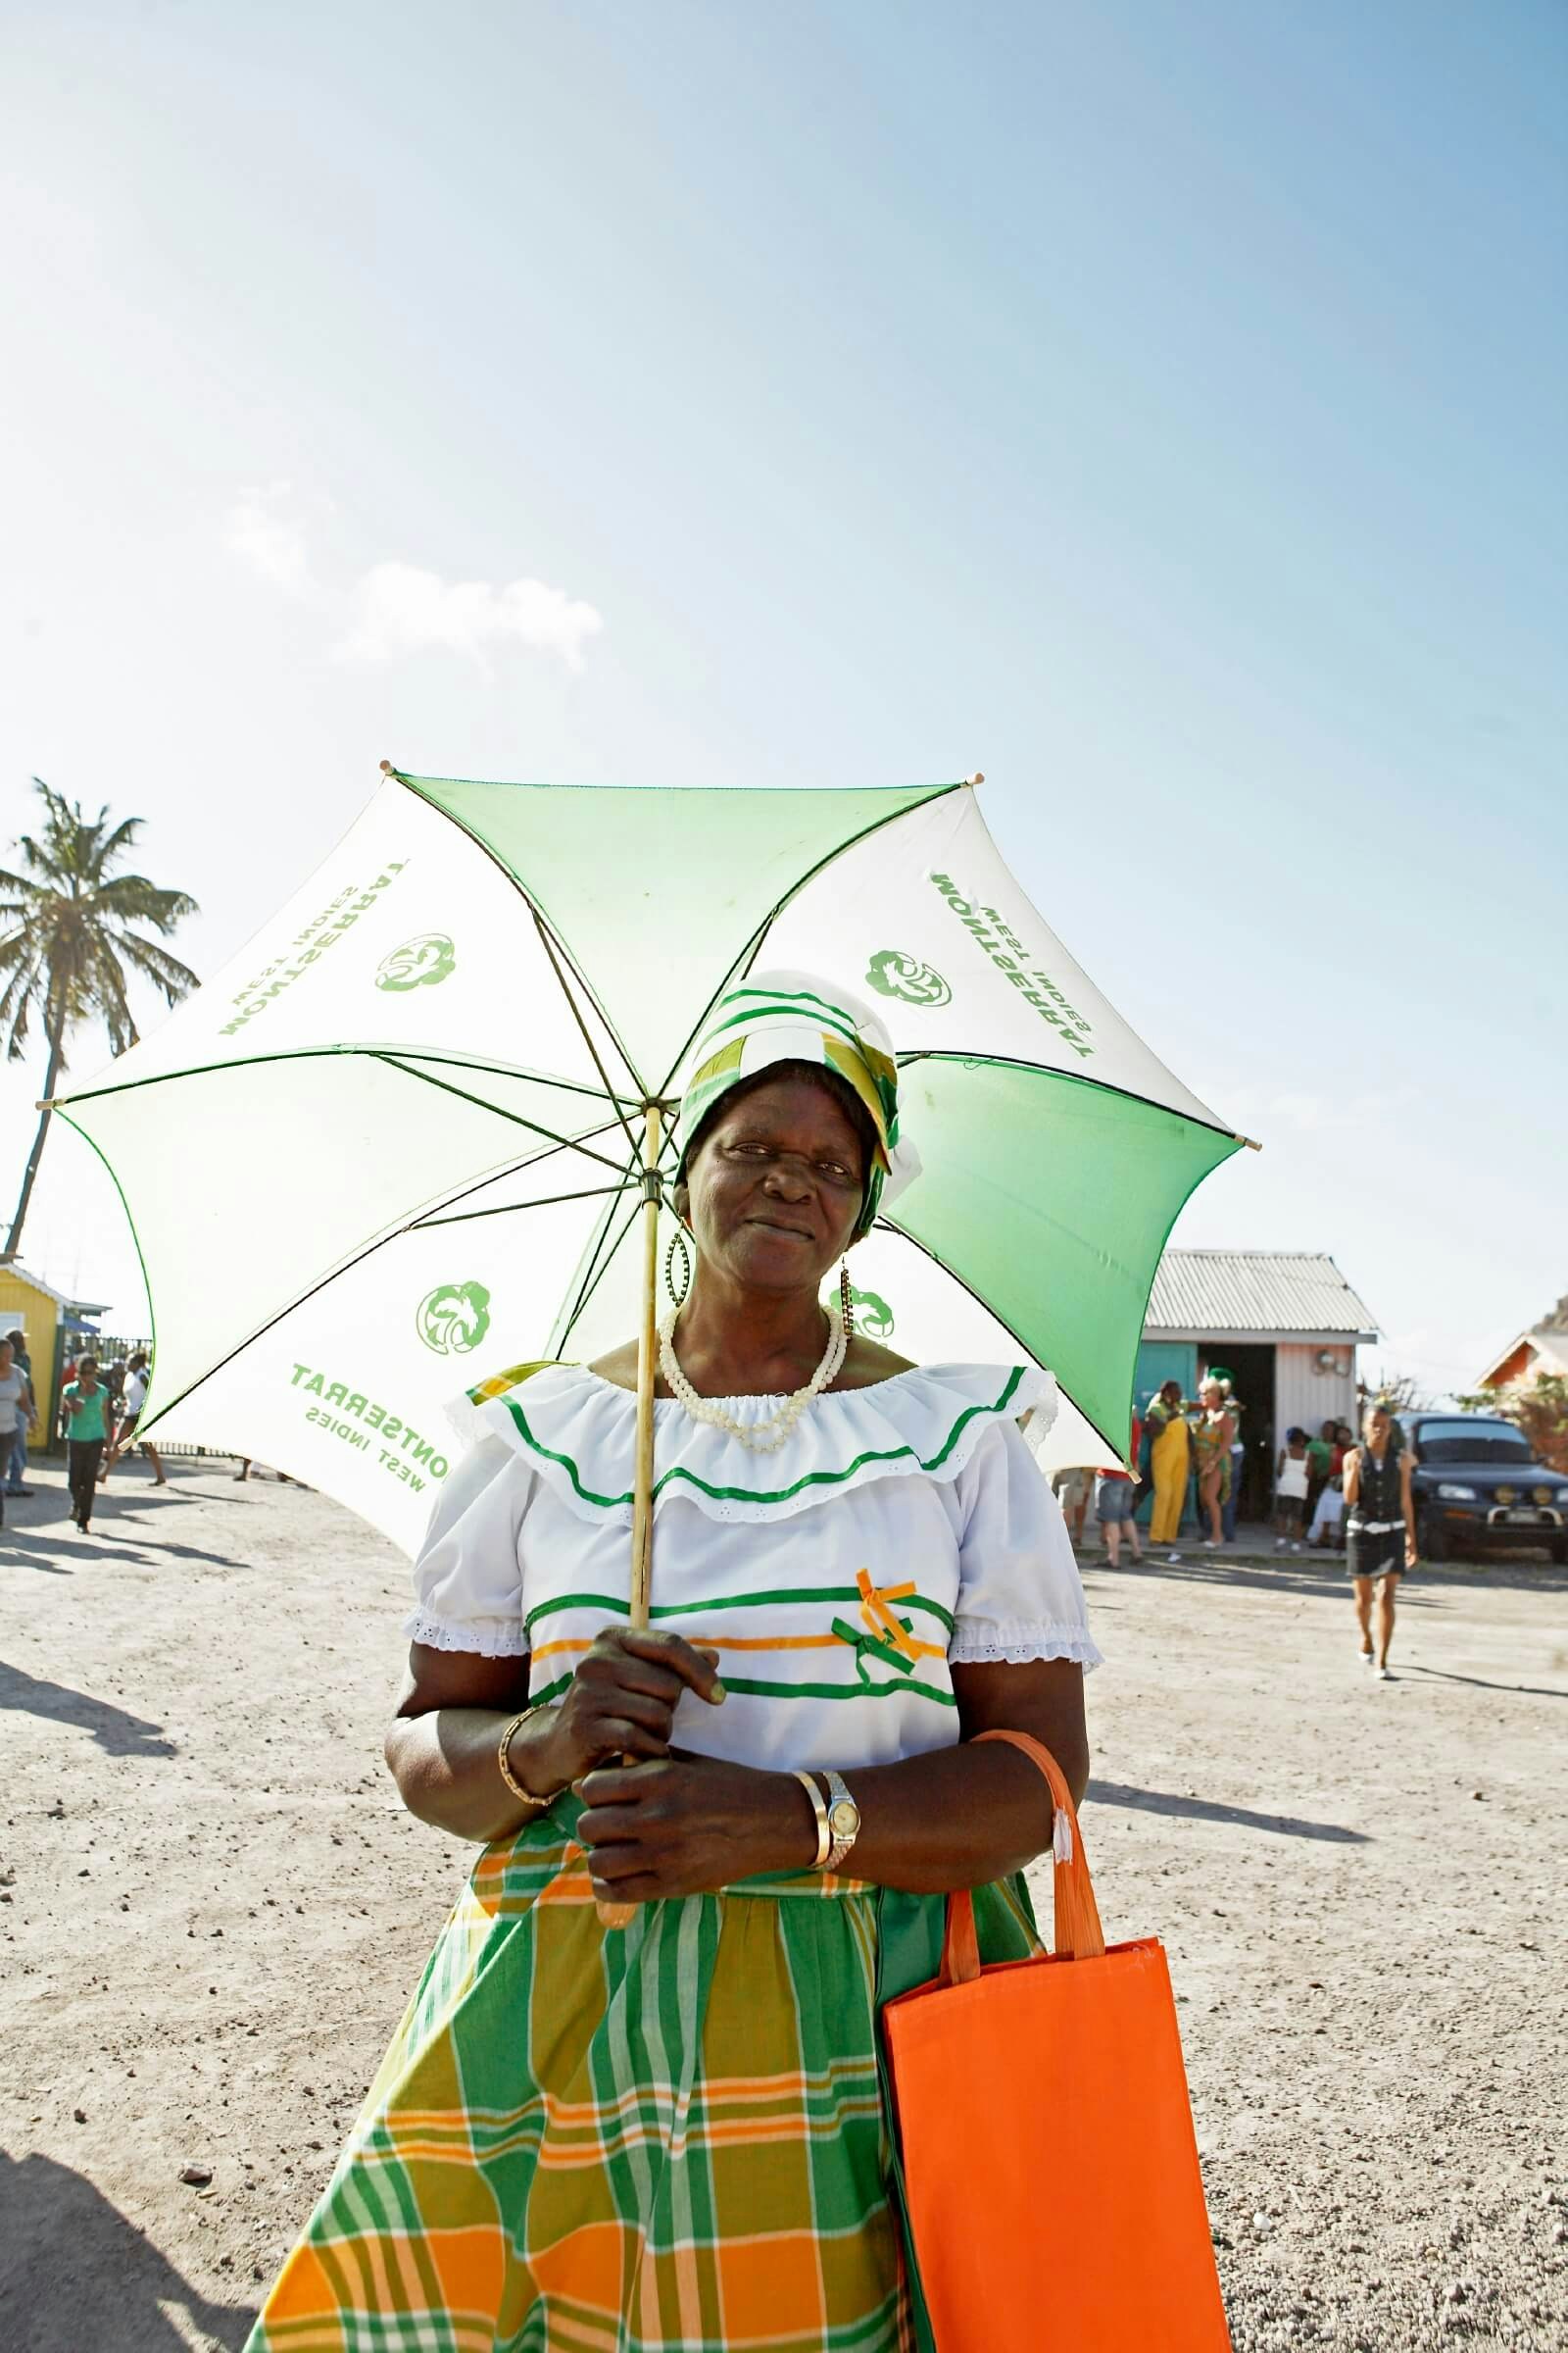
[{"label": "bright orange tote bag hanging from the woman's arm", "polygon": [[1154,1937],[1107,1948],[1056,1758],[1056,1951],[983,1967],[969,1892],[943,1974],[882,2012],[938,2353],[1229,2353],[1182,2045]]}]

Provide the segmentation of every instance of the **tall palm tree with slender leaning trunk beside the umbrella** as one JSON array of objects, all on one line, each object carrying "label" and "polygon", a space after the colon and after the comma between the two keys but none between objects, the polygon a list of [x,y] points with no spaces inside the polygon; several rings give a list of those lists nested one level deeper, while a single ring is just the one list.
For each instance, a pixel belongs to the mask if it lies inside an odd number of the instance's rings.
[{"label": "tall palm tree with slender leaning trunk beside the umbrella", "polygon": [[49,1099],[66,1066],[66,1038],[82,1021],[103,1021],[110,1052],[136,1045],[136,1021],[125,993],[127,967],[162,988],[179,1005],[195,986],[195,972],[146,939],[134,925],[150,925],[167,939],[183,915],[195,915],[195,899],[183,889],[162,889],[146,875],[118,875],[113,868],[141,831],[139,816],[110,828],[108,809],[82,816],[80,800],[66,800],[42,776],[33,776],[45,805],[38,833],[24,833],[21,873],[0,868],[0,1031],[7,1033],[7,1061],[21,1061],[33,1019],[49,1042],[45,1106],[21,1179],[21,1198],[0,1266],[16,1257],[21,1224],[28,1214],[38,1162],[49,1132]]}]

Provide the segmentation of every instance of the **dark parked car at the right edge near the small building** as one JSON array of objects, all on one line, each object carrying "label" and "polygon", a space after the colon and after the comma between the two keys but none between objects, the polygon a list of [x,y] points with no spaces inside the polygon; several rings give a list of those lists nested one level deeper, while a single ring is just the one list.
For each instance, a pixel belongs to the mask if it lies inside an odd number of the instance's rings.
[{"label": "dark parked car at the right edge near the small building", "polygon": [[1530,1452],[1500,1414],[1415,1414],[1415,1541],[1422,1560],[1493,1544],[1544,1544],[1568,1562],[1568,1478]]}]

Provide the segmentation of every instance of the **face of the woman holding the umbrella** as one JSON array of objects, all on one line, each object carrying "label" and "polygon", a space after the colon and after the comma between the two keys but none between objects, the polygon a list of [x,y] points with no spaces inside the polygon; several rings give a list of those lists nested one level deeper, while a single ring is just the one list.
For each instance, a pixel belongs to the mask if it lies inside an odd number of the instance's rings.
[{"label": "face of the woman holding the umbrella", "polygon": [[827,1087],[778,1078],[726,1104],[686,1172],[677,1212],[710,1266],[757,1292],[818,1292],[849,1247],[865,1151]]}]

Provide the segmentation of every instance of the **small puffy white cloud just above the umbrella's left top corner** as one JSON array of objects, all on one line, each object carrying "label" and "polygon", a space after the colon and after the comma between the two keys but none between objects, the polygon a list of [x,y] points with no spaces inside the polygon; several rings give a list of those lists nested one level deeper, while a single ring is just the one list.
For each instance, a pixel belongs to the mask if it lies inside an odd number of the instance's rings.
[{"label": "small puffy white cloud just above the umbrella's left top corner", "polygon": [[336,647],[341,661],[395,661],[428,647],[465,654],[482,671],[487,654],[522,645],[531,654],[583,668],[583,647],[604,628],[581,598],[545,581],[444,581],[418,565],[371,565],[353,593],[353,626]]}]

